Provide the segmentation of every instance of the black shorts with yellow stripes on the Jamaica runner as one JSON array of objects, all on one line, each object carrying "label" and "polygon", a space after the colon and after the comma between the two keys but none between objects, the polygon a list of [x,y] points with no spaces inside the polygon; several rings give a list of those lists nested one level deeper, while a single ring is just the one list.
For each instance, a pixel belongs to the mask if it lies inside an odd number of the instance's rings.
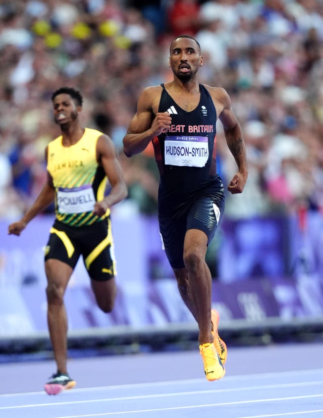
[{"label": "black shorts with yellow stripes on the Jamaica runner", "polygon": [[74,269],[82,255],[92,280],[105,281],[116,275],[110,217],[81,227],[71,227],[56,220],[49,232],[45,261],[55,258]]}]

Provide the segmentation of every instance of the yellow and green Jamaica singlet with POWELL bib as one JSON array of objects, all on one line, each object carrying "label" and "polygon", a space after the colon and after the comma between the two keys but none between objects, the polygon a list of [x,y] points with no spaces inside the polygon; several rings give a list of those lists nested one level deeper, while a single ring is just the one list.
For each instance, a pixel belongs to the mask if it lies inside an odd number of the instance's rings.
[{"label": "yellow and green Jamaica singlet with POWELL bib", "polygon": [[95,129],[85,128],[82,138],[68,147],[62,144],[62,135],[48,144],[47,170],[56,190],[56,219],[66,225],[80,227],[101,221],[93,215],[97,200],[104,198],[106,175],[96,161],[96,143],[102,135]]}]

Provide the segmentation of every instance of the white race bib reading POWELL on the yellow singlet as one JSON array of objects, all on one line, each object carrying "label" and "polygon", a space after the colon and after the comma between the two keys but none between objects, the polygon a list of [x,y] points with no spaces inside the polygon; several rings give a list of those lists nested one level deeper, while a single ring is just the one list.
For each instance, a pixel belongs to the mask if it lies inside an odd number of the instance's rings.
[{"label": "white race bib reading POWELL on the yellow singlet", "polygon": [[95,197],[90,184],[72,189],[63,187],[58,189],[57,205],[61,214],[92,212],[94,203]]}]

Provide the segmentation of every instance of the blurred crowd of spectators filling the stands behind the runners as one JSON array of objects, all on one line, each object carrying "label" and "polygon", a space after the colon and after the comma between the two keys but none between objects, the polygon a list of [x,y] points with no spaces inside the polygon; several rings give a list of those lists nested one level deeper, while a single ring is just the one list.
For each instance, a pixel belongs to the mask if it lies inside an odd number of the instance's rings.
[{"label": "blurred crowd of spectators filling the stands behind the runners", "polygon": [[[243,129],[249,179],[226,216],[321,210],[323,0],[10,0],[0,2],[0,217],[18,218],[44,183],[61,86],[81,91],[83,125],[116,144],[128,210],[156,213],[152,149],[127,159],[122,138],[142,89],[172,79],[179,34],[199,41],[200,82],[228,91]],[[236,166],[217,129],[226,185]]]}]

